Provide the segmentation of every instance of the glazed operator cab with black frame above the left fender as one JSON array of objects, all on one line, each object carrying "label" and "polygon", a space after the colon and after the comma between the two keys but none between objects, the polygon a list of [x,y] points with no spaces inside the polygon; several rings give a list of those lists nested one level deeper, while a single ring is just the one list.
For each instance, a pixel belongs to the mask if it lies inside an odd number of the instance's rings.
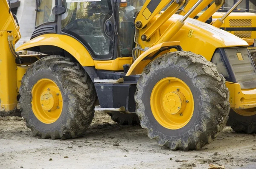
[{"label": "glazed operator cab with black frame above the left fender", "polygon": [[31,39],[42,34],[65,34],[79,40],[94,60],[131,57],[135,14],[144,3],[145,0],[37,0]]}]

